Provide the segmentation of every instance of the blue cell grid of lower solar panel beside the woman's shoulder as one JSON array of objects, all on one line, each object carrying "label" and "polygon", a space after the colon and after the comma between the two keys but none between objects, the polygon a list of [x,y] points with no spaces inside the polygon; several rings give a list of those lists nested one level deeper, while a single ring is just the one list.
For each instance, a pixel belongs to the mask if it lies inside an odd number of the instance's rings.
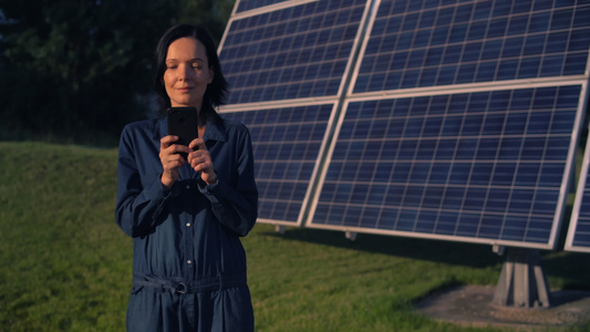
[{"label": "blue cell grid of lower solar panel beside the woman's shoulder", "polygon": [[297,224],[332,104],[226,112],[248,126],[259,190],[259,218]]}]

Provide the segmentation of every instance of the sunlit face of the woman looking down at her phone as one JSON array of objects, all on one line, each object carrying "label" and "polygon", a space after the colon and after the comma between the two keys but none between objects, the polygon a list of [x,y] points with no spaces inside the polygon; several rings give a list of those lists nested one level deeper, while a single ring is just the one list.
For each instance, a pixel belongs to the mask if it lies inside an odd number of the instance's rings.
[{"label": "sunlit face of the woman looking down at her phone", "polygon": [[180,38],[170,43],[164,86],[173,107],[193,106],[200,111],[203,96],[213,76],[207,51],[200,41]]}]

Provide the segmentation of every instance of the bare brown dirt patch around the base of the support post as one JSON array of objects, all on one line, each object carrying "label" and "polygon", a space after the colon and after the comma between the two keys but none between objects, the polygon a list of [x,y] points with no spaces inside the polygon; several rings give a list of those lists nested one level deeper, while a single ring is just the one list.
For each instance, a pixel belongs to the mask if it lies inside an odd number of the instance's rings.
[{"label": "bare brown dirt patch around the base of the support post", "polygon": [[590,321],[590,292],[551,291],[550,308],[520,309],[491,303],[495,287],[464,286],[418,302],[432,319],[472,326],[514,326],[520,331],[571,328]]}]

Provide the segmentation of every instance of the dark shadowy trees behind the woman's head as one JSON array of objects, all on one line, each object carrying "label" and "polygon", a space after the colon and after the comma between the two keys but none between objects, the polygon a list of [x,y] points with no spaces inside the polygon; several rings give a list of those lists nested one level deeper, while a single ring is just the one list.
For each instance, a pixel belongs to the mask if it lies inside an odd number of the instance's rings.
[{"label": "dark shadowy trees behind the woman's head", "polygon": [[0,0],[0,138],[74,142],[151,114],[166,29],[195,17],[219,39],[229,14],[213,0]]}]

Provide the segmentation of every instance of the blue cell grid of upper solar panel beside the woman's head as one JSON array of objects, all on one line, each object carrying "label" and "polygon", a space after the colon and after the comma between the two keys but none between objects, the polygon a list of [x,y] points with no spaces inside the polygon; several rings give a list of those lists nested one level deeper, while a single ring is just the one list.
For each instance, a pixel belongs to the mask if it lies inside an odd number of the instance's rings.
[{"label": "blue cell grid of upper solar panel beside the woman's head", "polygon": [[220,52],[229,104],[337,95],[364,8],[315,1],[231,21]]}]

